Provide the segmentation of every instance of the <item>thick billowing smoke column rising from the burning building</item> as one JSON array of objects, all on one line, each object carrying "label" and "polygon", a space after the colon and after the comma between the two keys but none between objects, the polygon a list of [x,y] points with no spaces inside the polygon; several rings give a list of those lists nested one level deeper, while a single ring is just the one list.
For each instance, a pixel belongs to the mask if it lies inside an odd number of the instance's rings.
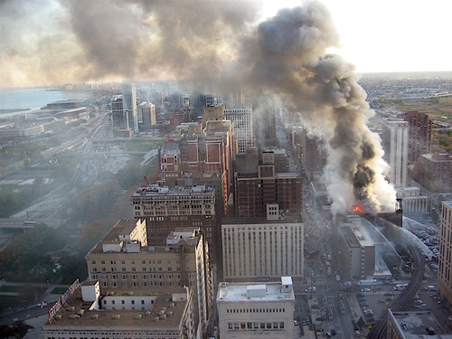
[{"label": "thick billowing smoke column rising from the burning building", "polygon": [[379,136],[367,126],[374,112],[352,64],[328,55],[339,38],[325,5],[305,2],[259,24],[247,39],[243,70],[251,84],[277,92],[300,121],[316,126],[328,160],[323,176],[333,213],[354,204],[369,212],[394,210],[396,194],[385,180]]}]

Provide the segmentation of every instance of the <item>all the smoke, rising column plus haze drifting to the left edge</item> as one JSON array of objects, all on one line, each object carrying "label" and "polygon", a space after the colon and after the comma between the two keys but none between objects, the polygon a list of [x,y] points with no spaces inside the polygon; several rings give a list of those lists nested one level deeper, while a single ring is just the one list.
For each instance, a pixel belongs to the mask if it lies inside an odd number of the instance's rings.
[{"label": "all the smoke, rising column plus haze drifting to the left edge", "polygon": [[[353,65],[328,54],[339,35],[306,1],[259,22],[254,1],[0,2],[2,87],[66,82],[218,79],[274,93],[328,148],[333,212],[394,209],[373,111]],[[26,20],[25,20],[26,18]]]}]

